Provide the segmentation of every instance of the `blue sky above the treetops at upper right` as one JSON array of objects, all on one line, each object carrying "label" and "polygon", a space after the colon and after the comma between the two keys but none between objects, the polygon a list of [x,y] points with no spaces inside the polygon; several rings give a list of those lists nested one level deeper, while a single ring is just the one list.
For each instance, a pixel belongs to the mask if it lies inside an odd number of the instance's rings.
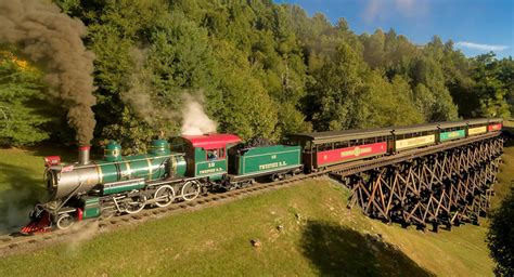
[{"label": "blue sky above the treetops at upper right", "polygon": [[434,35],[467,56],[492,51],[514,57],[514,0],[274,0],[294,3],[332,22],[344,17],[357,34],[390,28],[416,44]]}]

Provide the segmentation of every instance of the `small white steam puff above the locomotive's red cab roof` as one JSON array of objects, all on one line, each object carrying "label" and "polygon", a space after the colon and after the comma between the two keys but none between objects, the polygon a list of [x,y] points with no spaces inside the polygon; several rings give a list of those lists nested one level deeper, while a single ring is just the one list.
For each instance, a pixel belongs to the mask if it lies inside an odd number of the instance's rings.
[{"label": "small white steam puff above the locomotive's red cab roof", "polygon": [[202,104],[195,101],[191,95],[184,94],[183,97],[182,135],[215,133],[217,123],[205,114]]}]

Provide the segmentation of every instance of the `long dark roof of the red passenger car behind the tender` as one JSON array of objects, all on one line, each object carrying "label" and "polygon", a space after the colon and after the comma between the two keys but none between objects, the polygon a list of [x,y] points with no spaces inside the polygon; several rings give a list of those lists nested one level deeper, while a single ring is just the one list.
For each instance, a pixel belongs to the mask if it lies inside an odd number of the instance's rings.
[{"label": "long dark roof of the red passenger car behind the tender", "polygon": [[339,141],[369,138],[375,136],[390,135],[390,128],[358,129],[344,131],[326,131],[313,133],[296,133],[288,135],[292,138],[312,141],[314,144],[331,143]]}]

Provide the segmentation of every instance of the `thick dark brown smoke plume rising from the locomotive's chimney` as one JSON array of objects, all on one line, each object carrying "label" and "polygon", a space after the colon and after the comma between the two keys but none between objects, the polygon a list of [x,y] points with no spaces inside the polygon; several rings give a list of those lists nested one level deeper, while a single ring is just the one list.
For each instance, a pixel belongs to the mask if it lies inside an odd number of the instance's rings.
[{"label": "thick dark brown smoke plume rising from the locomotive's chimney", "polygon": [[81,37],[86,26],[61,13],[59,6],[42,0],[0,0],[0,43],[15,44],[40,65],[50,95],[67,109],[68,123],[79,144],[87,145],[95,126],[91,107],[94,54]]}]

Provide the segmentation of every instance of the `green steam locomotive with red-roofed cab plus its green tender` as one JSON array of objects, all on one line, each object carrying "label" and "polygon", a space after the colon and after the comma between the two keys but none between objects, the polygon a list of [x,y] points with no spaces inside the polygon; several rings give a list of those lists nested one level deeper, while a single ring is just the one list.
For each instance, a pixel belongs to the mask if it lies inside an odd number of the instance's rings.
[{"label": "green steam locomotive with red-roofed cab plus its green tender", "polygon": [[[246,156],[227,155],[240,142],[231,134],[180,136],[171,146],[166,140],[155,140],[147,154],[121,156],[121,146],[112,141],[101,160],[89,159],[89,146],[79,148],[79,161],[73,164],[61,163],[56,156],[47,157],[50,201],[36,205],[33,222],[22,233],[65,229],[85,219],[138,213],[146,206],[166,207],[177,198],[189,201],[203,192],[252,184],[257,175],[277,179],[301,171],[297,146],[257,147],[245,149]],[[250,172],[229,173],[229,159],[243,160]]]}]

